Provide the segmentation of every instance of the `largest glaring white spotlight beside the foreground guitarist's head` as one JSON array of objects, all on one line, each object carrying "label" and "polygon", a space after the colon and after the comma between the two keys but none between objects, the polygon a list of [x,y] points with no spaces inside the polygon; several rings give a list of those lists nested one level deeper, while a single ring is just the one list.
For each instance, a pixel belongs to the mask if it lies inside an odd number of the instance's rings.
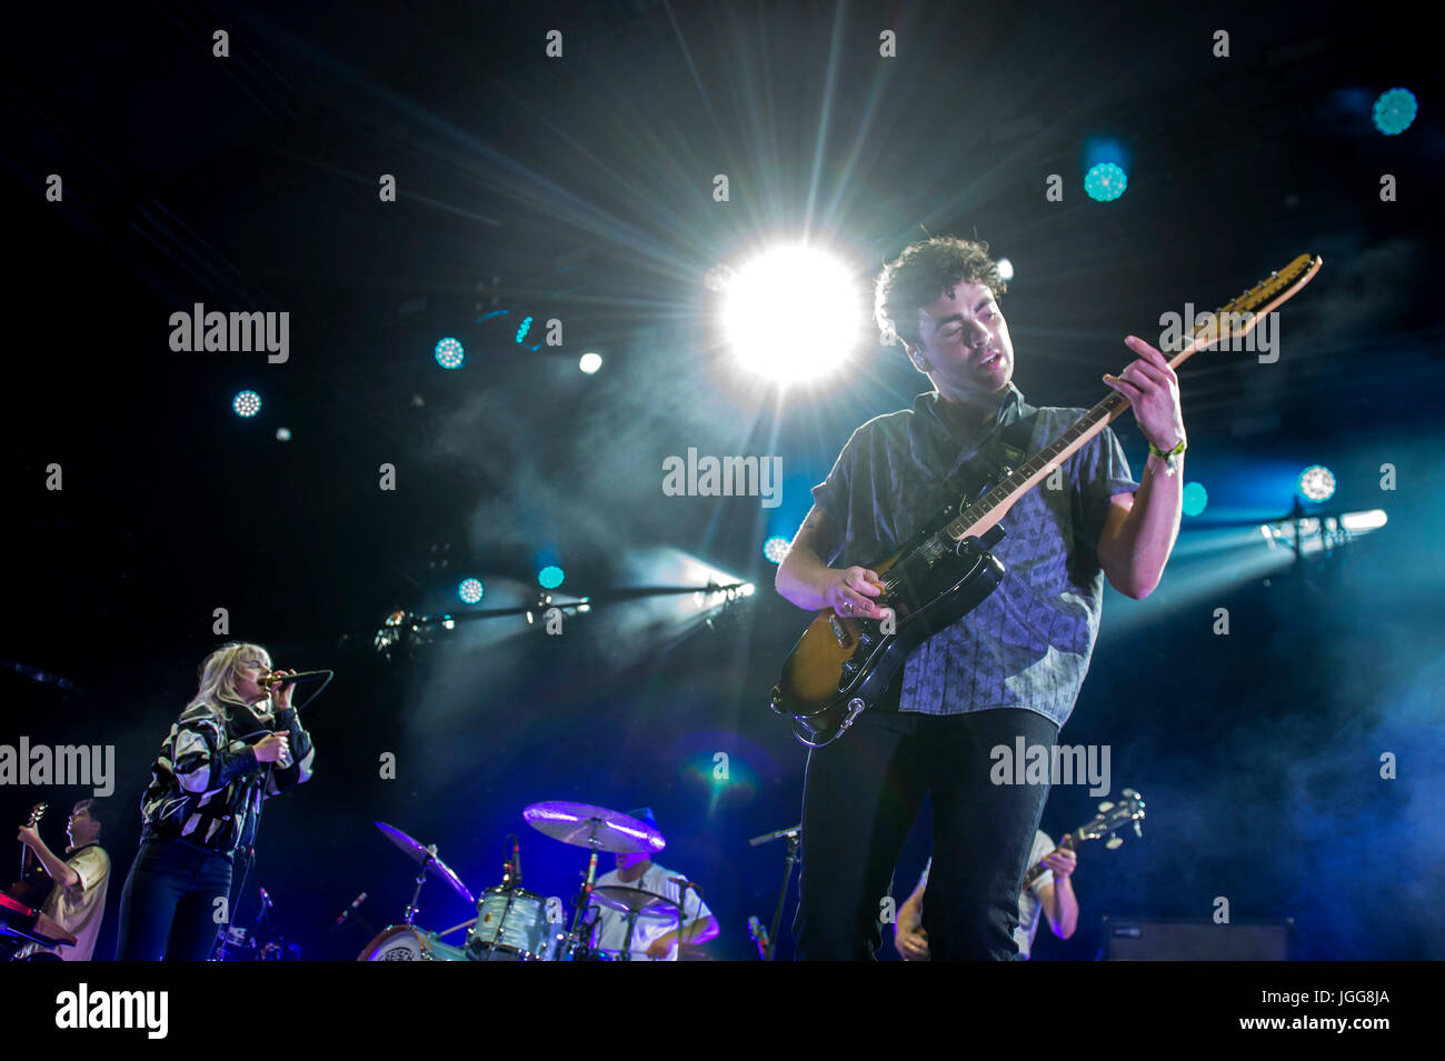
[{"label": "largest glaring white spotlight beside the foreground guitarist's head", "polygon": [[779,247],[727,287],[722,325],[747,368],[779,383],[828,375],[858,344],[861,303],[850,270],[811,247]]}]

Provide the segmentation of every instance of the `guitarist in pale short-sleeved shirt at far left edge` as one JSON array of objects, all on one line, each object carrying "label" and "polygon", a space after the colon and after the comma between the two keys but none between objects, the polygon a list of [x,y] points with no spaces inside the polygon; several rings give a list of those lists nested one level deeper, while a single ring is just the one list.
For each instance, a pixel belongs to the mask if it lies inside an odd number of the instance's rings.
[{"label": "guitarist in pale short-sleeved shirt at far left edge", "polygon": [[[33,826],[20,827],[20,842],[35,852],[55,886],[40,912],[75,937],[75,946],[61,946],[55,954],[65,961],[90,961],[95,938],[105,920],[105,892],[110,889],[110,856],[100,846],[101,813],[97,800],[81,800],[65,826],[69,846],[65,859],[52,852]],[[16,960],[45,950],[26,944]]]}]

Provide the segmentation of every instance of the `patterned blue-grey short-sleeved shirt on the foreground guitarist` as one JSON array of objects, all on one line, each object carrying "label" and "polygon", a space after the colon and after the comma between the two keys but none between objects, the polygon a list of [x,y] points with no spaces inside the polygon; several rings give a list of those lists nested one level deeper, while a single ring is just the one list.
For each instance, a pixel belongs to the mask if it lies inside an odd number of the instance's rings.
[{"label": "patterned blue-grey short-sleeved shirt on the foreground guitarist", "polygon": [[[1020,465],[1085,410],[1035,409],[1009,384],[996,416],[959,443],[936,391],[910,410],[868,420],[838,455],[814,501],[842,533],[829,564],[871,564],[896,553],[980,465]],[[975,459],[977,458],[977,459]],[[1003,583],[974,611],[919,645],[903,668],[899,709],[962,715],[1025,707],[1062,726],[1098,637],[1104,573],[1095,553],[1116,494],[1139,489],[1105,427],[1003,517],[993,549]]]}]

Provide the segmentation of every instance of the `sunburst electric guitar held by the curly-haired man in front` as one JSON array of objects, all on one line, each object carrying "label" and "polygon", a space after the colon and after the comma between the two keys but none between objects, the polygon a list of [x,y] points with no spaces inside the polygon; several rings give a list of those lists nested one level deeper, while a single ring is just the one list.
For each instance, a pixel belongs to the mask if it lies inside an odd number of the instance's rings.
[{"label": "sunburst electric guitar held by the curly-haired man in front", "polygon": [[[1178,370],[1198,351],[1247,335],[1266,313],[1298,294],[1321,264],[1319,256],[1300,254],[1215,313],[1196,318],[1169,367]],[[840,616],[829,608],[815,615],[788,654],[769,704],[792,719],[799,742],[822,748],[837,741],[877,702],[909,652],[958,622],[998,586],[1004,567],[988,551],[1003,537],[998,521],[1127,407],[1129,398],[1110,391],[1022,468],[1004,468],[985,494],[946,507],[902,550],[867,564],[883,580],[883,592],[873,601],[893,609],[890,621]]]}]

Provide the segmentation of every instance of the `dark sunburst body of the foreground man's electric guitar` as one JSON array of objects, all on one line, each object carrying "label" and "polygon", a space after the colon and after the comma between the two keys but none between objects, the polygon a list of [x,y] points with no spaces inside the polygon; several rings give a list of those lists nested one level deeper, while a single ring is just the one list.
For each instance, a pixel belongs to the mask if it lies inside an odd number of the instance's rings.
[{"label": "dark sunburst body of the foreground man's electric guitar", "polygon": [[998,588],[1004,567],[988,547],[1003,537],[1003,528],[955,543],[942,531],[954,515],[952,508],[945,510],[903,550],[868,566],[889,588],[874,601],[893,609],[892,634],[876,619],[850,619],[824,609],[793,645],[770,706],[792,719],[799,742],[822,748],[838,739],[877,703],[909,652]]}]

